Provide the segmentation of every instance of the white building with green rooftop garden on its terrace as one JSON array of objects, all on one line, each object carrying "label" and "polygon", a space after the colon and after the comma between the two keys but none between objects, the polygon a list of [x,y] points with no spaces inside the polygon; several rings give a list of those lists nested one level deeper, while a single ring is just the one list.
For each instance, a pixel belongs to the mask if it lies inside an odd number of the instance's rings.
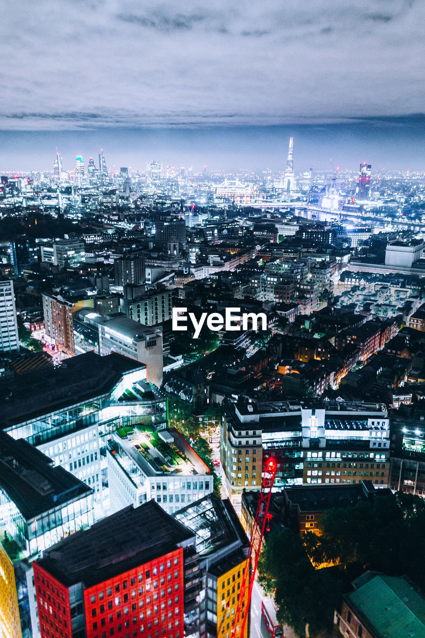
[{"label": "white building with green rooftop garden on its terrace", "polygon": [[111,512],[154,500],[174,514],[213,491],[208,466],[175,429],[140,424],[118,430],[107,457]]}]

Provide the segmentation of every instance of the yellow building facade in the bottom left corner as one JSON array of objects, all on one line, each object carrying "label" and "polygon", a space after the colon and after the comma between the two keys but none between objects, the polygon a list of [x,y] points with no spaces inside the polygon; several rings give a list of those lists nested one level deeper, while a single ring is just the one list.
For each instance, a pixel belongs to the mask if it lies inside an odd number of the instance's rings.
[{"label": "yellow building facade in the bottom left corner", "polygon": [[22,638],[15,572],[0,544],[0,638]]}]

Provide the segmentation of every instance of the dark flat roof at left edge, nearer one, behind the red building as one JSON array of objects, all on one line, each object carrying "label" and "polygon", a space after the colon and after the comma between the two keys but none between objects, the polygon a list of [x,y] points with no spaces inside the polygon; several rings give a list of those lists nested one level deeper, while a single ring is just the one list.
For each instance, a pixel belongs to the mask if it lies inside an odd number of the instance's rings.
[{"label": "dark flat roof at left edge, nearer one, behind the red building", "polygon": [[0,489],[27,521],[92,492],[26,440],[16,441],[4,432],[0,432]]}]

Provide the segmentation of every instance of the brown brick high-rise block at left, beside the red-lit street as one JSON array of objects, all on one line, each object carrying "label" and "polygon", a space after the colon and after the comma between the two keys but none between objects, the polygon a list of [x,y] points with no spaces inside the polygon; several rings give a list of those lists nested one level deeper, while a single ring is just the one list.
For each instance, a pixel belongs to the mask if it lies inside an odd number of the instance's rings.
[{"label": "brown brick high-rise block at left, beside the red-lit street", "polygon": [[68,357],[75,355],[73,305],[60,295],[43,295],[45,339]]}]

